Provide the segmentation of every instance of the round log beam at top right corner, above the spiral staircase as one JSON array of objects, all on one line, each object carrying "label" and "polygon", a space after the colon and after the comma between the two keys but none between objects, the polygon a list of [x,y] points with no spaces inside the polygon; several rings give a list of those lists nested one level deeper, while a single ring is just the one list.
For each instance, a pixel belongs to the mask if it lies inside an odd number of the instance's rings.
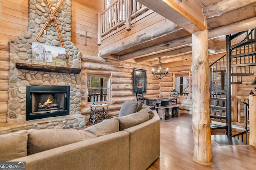
[{"label": "round log beam at top right corner, above the spiral staircase", "polygon": [[211,18],[221,16],[222,14],[252,4],[256,0],[220,0],[203,8],[204,17]]}]

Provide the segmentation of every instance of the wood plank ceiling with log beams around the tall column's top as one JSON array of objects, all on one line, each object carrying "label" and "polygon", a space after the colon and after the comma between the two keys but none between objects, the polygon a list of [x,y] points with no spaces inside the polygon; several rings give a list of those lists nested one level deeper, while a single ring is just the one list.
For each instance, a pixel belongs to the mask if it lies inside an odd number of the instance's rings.
[{"label": "wood plank ceiling with log beams around the tall column's top", "polygon": [[[119,56],[121,61],[126,60],[123,56],[127,54],[132,54],[133,57],[131,58],[135,59],[137,63],[147,61],[149,65],[157,65],[157,57],[162,57],[162,63],[191,58],[192,48],[189,46],[190,43],[180,46],[180,42],[176,39],[183,38],[183,40],[190,41],[191,32],[204,29],[204,25],[202,25],[202,18],[204,17],[207,18],[208,23],[209,46],[216,48],[217,53],[225,52],[225,35],[256,27],[256,0],[183,0],[181,3],[180,0],[138,0],[138,2],[152,10],[155,9],[155,12],[184,29],[112,54],[116,57]],[[159,4],[162,4],[162,6]],[[200,12],[197,14],[191,9],[201,10],[202,14],[199,14]],[[161,13],[161,11],[165,12]],[[180,13],[176,14],[177,11]],[[186,21],[185,17],[183,22],[186,22],[186,24],[180,22],[180,17],[179,20],[176,20],[173,17],[175,15],[176,17],[177,15],[186,15],[190,18],[190,23]],[[176,47],[158,51],[157,47],[159,45],[164,45],[169,41],[177,41]],[[154,51],[150,51],[146,55],[138,55],[145,48],[154,48]],[[179,57],[181,55],[182,57]]]}]

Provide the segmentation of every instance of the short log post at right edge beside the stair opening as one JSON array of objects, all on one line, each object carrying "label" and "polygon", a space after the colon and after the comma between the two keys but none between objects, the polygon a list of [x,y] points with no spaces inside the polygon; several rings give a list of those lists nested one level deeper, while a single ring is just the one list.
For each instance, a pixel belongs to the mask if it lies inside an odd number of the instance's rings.
[{"label": "short log post at right edge beside the stair opening", "polygon": [[256,147],[256,96],[249,96],[250,145]]}]

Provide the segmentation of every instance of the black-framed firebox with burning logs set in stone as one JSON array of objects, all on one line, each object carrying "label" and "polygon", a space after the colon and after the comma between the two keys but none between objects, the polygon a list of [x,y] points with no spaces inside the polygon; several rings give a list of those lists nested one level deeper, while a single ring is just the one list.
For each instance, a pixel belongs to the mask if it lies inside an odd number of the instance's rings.
[{"label": "black-framed firebox with burning logs set in stone", "polygon": [[69,115],[70,86],[27,86],[26,120]]}]

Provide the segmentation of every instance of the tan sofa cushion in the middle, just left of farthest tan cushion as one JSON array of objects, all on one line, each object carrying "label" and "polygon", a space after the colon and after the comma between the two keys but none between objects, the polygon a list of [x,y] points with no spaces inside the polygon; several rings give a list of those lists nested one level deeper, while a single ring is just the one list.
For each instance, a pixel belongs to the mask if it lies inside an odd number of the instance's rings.
[{"label": "tan sofa cushion in the middle, just left of farthest tan cushion", "polygon": [[118,119],[116,119],[115,117],[112,119],[105,119],[105,121],[102,121],[101,123],[97,123],[96,125],[92,125],[80,131],[84,131],[86,135],[91,138],[99,137],[110,133],[118,132],[119,122]]}]

